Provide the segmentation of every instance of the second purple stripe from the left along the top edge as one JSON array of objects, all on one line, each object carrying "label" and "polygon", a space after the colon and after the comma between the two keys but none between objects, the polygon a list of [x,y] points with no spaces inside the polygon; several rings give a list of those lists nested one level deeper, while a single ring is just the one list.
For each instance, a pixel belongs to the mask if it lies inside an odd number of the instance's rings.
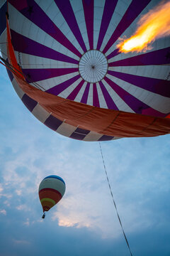
[{"label": "second purple stripe from the left along the top edge", "polygon": [[63,0],[55,0],[55,3],[57,4],[58,8],[60,9],[62,16],[64,16],[64,19],[67,22],[67,24],[69,25],[69,28],[71,29],[72,33],[74,33],[74,36],[77,38],[79,45],[84,50],[84,52],[86,52],[86,46],[85,46],[85,43],[81,36],[81,32],[79,30],[77,20],[74,16],[74,11],[72,9],[70,1],[69,0],[64,0],[64,1]]}]

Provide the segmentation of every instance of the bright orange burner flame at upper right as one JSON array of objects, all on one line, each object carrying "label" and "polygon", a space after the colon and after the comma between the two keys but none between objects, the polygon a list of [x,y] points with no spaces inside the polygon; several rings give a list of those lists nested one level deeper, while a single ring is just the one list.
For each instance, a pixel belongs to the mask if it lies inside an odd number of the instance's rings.
[{"label": "bright orange burner flame at upper right", "polygon": [[118,44],[120,52],[146,51],[152,49],[149,43],[170,35],[170,1],[159,4],[140,18],[133,36]]}]

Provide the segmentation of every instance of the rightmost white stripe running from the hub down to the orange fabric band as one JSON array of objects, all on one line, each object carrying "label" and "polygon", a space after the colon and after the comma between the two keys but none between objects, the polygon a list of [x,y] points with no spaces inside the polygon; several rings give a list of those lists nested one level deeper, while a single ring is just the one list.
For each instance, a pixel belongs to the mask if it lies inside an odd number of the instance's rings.
[{"label": "rightmost white stripe running from the hub down to the orange fabric band", "polygon": [[[106,76],[109,78],[108,75]],[[110,79],[113,81],[113,77]],[[118,110],[134,113],[134,111],[124,102],[124,100],[122,100],[121,97],[119,97],[119,95],[112,89],[110,85],[108,85],[108,83],[105,80],[102,80],[102,82],[103,85],[105,85],[106,90],[108,91],[108,94],[111,96],[113,102],[118,107]]]}]

